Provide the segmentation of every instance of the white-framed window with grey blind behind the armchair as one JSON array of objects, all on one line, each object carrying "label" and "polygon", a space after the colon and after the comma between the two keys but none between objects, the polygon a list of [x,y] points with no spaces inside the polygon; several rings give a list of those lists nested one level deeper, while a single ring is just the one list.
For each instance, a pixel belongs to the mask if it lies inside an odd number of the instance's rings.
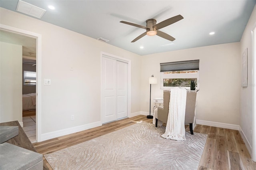
[{"label": "white-framed window with grey blind behind the armchair", "polygon": [[160,71],[162,89],[176,86],[190,89],[192,80],[199,89],[199,60],[160,63]]}]

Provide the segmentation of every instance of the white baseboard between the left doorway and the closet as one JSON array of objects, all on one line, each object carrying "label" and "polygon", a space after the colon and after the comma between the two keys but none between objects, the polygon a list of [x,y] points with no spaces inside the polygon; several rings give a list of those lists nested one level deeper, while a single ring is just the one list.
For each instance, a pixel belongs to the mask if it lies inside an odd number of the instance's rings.
[{"label": "white baseboard between the left doorway and the closet", "polygon": [[77,127],[57,130],[57,131],[54,131],[54,132],[44,133],[44,134],[41,135],[41,141],[52,139],[52,138],[57,138],[57,137],[60,137],[60,136],[80,132],[82,130],[87,130],[87,129],[95,128],[95,127],[99,127],[99,126],[102,126],[101,121],[94,122],[94,123],[89,123],[89,124],[81,125],[81,126],[77,126]]}]

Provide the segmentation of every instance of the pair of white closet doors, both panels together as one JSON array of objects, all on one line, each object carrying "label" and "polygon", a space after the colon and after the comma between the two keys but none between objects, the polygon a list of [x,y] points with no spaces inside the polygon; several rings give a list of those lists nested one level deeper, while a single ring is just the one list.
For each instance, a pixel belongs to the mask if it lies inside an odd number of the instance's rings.
[{"label": "pair of white closet doors, both panels together", "polygon": [[127,65],[102,57],[102,123],[127,117]]}]

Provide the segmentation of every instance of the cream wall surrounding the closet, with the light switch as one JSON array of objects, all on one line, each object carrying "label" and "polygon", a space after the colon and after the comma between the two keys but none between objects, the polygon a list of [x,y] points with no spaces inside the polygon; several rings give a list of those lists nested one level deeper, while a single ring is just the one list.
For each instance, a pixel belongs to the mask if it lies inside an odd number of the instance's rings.
[{"label": "cream wall surrounding the closet, with the light switch", "polygon": [[131,113],[140,111],[140,55],[4,8],[0,22],[42,35],[42,83],[51,79],[42,85],[42,134],[101,120],[101,51],[131,60]]}]

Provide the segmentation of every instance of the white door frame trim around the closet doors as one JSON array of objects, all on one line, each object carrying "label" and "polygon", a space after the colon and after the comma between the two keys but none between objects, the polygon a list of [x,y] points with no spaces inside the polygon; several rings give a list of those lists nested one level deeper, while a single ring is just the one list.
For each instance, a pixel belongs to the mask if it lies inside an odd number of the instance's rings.
[{"label": "white door frame trim around the closet doors", "polygon": [[122,61],[124,63],[127,63],[127,117],[131,117],[131,60],[124,58],[124,57],[119,57],[116,55],[112,55],[106,52],[101,52],[100,53],[100,122],[102,124],[102,99],[103,99],[103,94],[102,94],[102,88],[103,88],[103,82],[102,82],[102,59],[103,57],[114,59],[117,61]]}]

